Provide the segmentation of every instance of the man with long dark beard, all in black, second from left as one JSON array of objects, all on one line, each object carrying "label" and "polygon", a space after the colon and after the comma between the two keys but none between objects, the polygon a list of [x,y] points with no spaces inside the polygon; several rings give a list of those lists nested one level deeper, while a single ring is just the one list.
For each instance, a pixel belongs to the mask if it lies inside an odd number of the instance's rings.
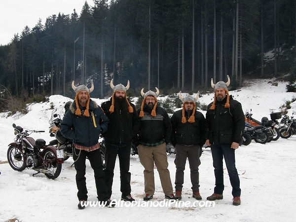
[{"label": "man with long dark beard, all in black, second from left", "polygon": [[108,194],[111,197],[116,156],[119,158],[121,199],[134,201],[131,196],[130,152],[132,138],[137,135],[141,121],[135,106],[126,96],[127,86],[113,85],[113,95],[110,101],[102,103],[101,107],[110,120],[108,131],[103,134],[106,147],[106,168],[104,169]]}]

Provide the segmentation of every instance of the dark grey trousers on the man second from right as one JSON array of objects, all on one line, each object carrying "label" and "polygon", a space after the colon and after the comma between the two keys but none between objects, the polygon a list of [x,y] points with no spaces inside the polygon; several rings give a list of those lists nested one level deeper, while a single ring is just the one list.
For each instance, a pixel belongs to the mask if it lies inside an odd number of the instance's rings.
[{"label": "dark grey trousers on the man second from right", "polygon": [[184,183],[184,170],[186,159],[188,158],[189,168],[190,168],[190,179],[192,184],[192,191],[199,191],[199,172],[198,166],[200,165],[199,159],[199,145],[194,145],[186,147],[181,144],[176,144],[176,179],[175,179],[175,189],[176,191],[182,191]]}]

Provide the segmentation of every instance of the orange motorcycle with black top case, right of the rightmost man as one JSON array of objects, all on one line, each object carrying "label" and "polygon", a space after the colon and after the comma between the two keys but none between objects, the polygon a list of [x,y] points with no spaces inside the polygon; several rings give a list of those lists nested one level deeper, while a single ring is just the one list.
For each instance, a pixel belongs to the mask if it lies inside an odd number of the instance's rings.
[{"label": "orange motorcycle with black top case, right of the rightmost man", "polygon": [[254,119],[252,115],[253,114],[249,112],[245,113],[245,122],[251,125],[250,126],[247,124],[247,129],[251,129],[252,126],[263,126],[264,131],[266,131],[268,135],[271,134],[271,137],[267,140],[267,143],[271,142],[272,140],[276,141],[280,138],[280,132],[278,128],[276,128],[273,120],[268,120],[268,118],[264,116],[261,118],[261,121],[258,121],[257,119]]}]

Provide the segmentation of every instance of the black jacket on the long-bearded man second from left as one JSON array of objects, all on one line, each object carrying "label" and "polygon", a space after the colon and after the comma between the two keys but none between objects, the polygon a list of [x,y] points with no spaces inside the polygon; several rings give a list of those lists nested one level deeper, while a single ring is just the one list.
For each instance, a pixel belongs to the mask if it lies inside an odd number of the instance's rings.
[{"label": "black jacket on the long-bearded man second from left", "polygon": [[128,111],[117,112],[116,109],[111,113],[109,111],[111,99],[101,104],[103,111],[110,120],[108,131],[103,134],[105,141],[107,143],[130,143],[140,129],[140,117],[132,103],[130,103],[134,110],[132,113]]}]

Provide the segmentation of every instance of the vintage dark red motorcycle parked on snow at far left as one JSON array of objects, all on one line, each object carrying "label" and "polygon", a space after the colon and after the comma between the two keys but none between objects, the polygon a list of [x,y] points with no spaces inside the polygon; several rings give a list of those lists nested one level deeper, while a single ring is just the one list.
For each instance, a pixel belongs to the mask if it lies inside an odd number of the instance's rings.
[{"label": "vintage dark red motorcycle parked on snow at far left", "polygon": [[33,174],[43,173],[49,179],[56,179],[62,170],[64,162],[63,150],[56,150],[55,147],[45,145],[43,139],[36,141],[29,137],[32,133],[45,131],[25,130],[13,123],[16,138],[10,143],[7,150],[7,160],[10,167],[15,171],[32,169],[37,171]]}]

